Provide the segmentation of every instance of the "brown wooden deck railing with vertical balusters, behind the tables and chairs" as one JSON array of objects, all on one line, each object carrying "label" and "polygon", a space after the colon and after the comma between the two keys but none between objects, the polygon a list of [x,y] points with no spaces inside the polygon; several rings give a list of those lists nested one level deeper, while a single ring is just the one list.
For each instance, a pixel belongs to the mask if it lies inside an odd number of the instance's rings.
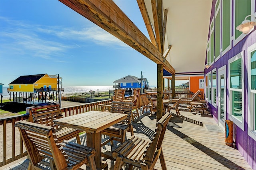
[{"label": "brown wooden deck railing with vertical balusters, behind the tables and chairs", "polygon": [[[167,93],[167,92],[166,92]],[[148,92],[144,94],[140,94],[140,96],[149,95],[154,96],[156,95],[156,92]],[[180,93],[177,94],[181,95]],[[182,94],[185,95],[185,94]],[[186,94],[193,95],[193,94]],[[132,98],[132,96],[126,96],[124,97],[125,100],[128,98]],[[86,103],[86,104],[80,104],[76,106],[71,107],[62,107],[61,111],[64,114],[64,117],[76,115],[80,113],[84,113],[91,110],[99,110],[99,104],[110,104],[112,100],[102,100],[99,102],[92,102],[92,103]],[[142,100],[141,97],[139,97],[139,100],[137,102],[137,106],[142,106]],[[2,148],[0,152],[2,152],[2,158],[0,156],[0,167],[4,166],[6,164],[9,164],[15,160],[18,160],[24,156],[27,155],[26,148],[23,147],[22,139],[20,138],[20,132],[18,131],[18,128],[14,127],[16,121],[20,120],[26,120],[28,119],[28,114],[24,115],[16,115],[11,117],[4,117],[0,118],[0,134],[2,137],[0,137],[0,143],[2,143]],[[8,153],[7,153],[8,151]]]}]

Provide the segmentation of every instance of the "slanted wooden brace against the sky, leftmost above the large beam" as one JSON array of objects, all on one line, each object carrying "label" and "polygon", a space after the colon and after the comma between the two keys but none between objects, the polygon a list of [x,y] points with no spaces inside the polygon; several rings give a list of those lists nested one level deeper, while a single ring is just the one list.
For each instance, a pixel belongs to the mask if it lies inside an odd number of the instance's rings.
[{"label": "slanted wooden brace against the sky, leftmost above the large beam", "polygon": [[146,28],[148,30],[148,35],[150,37],[151,43],[158,49],[158,46],[156,45],[156,37],[154,34],[154,30],[150,21],[150,18],[148,16],[148,10],[146,8],[144,0],[137,0],[138,6],[140,8],[140,13],[142,15],[142,18],[144,20],[144,23],[146,25]]}]

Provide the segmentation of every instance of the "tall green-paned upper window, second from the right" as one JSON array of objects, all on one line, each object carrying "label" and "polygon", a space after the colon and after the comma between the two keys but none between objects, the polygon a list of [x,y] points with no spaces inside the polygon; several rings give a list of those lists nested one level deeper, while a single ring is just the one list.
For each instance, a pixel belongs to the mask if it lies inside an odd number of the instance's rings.
[{"label": "tall green-paned upper window, second from the right", "polygon": [[231,48],[231,1],[222,0],[222,54]]}]

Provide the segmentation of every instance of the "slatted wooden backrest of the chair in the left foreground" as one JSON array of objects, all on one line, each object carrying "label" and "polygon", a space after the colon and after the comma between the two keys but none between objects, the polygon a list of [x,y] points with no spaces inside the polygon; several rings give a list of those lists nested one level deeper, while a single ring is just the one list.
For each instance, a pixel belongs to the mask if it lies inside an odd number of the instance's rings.
[{"label": "slatted wooden backrest of the chair in the left foreground", "polygon": [[58,147],[53,127],[28,121],[18,121],[15,126],[19,128],[33,166],[41,162],[41,156],[51,160],[58,159],[58,161],[54,161],[57,169],[64,169],[68,166],[67,156]]}]

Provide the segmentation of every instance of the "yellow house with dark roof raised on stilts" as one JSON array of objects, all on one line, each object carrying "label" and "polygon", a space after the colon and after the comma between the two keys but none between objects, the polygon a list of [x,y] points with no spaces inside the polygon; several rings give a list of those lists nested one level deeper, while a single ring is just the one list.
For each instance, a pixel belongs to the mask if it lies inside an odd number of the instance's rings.
[{"label": "yellow house with dark roof raised on stilts", "polygon": [[[59,78],[59,80],[58,80]],[[11,97],[13,92],[14,102],[32,101],[35,100],[38,93],[38,100],[54,99],[54,92],[57,92],[61,85],[61,77],[48,74],[36,74],[20,76],[9,84],[8,93]],[[58,84],[58,81],[60,84]],[[64,91],[60,89],[60,92]],[[16,94],[14,94],[16,93]]]}]

